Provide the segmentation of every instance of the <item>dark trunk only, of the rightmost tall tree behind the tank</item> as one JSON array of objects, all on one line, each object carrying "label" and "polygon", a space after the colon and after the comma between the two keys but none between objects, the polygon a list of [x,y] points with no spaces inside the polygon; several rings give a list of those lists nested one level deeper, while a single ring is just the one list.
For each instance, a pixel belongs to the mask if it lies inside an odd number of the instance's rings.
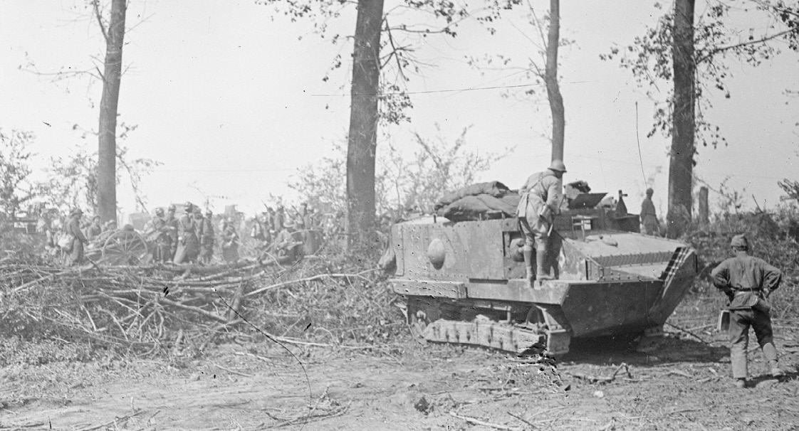
[{"label": "dark trunk only, of the rightmost tall tree behind the tank", "polygon": [[667,235],[677,238],[691,220],[694,169],[694,0],[674,4],[674,127],[669,164]]}]

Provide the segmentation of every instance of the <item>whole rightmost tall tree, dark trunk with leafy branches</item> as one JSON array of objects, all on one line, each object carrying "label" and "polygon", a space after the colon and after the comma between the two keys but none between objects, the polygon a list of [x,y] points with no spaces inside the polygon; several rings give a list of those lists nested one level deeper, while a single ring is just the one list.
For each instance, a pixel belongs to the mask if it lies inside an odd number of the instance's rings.
[{"label": "whole rightmost tall tree, dark trunk with leafy branches", "polygon": [[[731,97],[726,85],[733,74],[730,61],[760,65],[779,53],[773,41],[788,42],[790,49],[797,49],[799,4],[786,6],[781,0],[737,3],[733,7],[729,2],[708,2],[697,20],[694,0],[677,0],[674,9],[646,34],[635,38],[632,45],[614,46],[609,54],[600,55],[603,60],[618,58],[622,68],[630,69],[638,85],[656,101],[654,125],[648,136],[663,132],[672,139],[667,214],[671,238],[682,235],[692,219],[696,142],[714,148],[726,144],[720,128],[711,125],[705,113],[713,107],[710,94],[714,90]],[[660,7],[659,3],[655,6]],[[740,14],[758,14],[764,25],[737,28],[734,22]],[[674,85],[666,100],[657,102],[662,81]]]}]

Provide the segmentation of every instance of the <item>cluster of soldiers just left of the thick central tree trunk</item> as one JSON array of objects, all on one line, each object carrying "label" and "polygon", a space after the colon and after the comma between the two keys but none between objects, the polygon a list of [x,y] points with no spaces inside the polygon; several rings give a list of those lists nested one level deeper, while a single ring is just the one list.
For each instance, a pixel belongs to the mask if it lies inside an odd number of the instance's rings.
[{"label": "cluster of soldiers just left of the thick central tree trunk", "polygon": [[276,210],[267,207],[253,220],[250,237],[258,241],[265,252],[296,259],[304,249],[312,251],[316,247],[321,224],[321,212],[307,203],[300,204],[293,212],[286,211],[282,205]]}]

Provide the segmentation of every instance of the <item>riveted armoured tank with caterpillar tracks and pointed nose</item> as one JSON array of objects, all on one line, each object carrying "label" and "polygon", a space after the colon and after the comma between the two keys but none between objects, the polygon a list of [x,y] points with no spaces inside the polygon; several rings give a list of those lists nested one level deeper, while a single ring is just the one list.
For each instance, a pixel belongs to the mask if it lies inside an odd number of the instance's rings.
[{"label": "riveted armoured tank with caterpillar tracks and pointed nose", "polygon": [[[638,215],[626,214],[619,195],[615,209],[597,206],[605,193],[572,196],[551,232],[555,279],[543,282],[525,279],[523,234],[507,211],[396,224],[389,282],[407,299],[411,332],[514,352],[543,342],[565,354],[572,338],[662,330],[698,272],[697,256],[685,243],[638,233]],[[500,198],[515,209],[513,196],[518,202],[515,192]]]}]

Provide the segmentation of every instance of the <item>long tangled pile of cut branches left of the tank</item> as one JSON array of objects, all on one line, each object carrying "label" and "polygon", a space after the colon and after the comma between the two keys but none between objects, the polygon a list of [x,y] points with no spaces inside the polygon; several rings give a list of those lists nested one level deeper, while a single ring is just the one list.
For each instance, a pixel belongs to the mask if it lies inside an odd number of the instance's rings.
[{"label": "long tangled pile of cut branches left of the tank", "polygon": [[389,323],[398,317],[395,295],[382,277],[363,263],[316,256],[290,265],[271,259],[205,267],[58,267],[35,256],[6,258],[0,338],[84,342],[145,356],[188,347],[199,354],[225,334],[384,341],[388,329],[401,328]]}]

